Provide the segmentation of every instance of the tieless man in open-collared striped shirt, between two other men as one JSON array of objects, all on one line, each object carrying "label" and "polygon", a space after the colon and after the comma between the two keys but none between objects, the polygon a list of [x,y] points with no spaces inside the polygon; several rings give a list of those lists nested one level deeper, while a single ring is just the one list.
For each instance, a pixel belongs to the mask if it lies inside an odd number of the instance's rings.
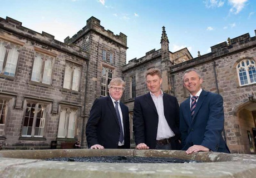
[{"label": "tieless man in open-collared striped shirt, between two other men", "polygon": [[161,90],[157,68],[146,72],[149,92],[135,98],[134,136],[136,149],[179,150],[179,104],[176,97]]}]

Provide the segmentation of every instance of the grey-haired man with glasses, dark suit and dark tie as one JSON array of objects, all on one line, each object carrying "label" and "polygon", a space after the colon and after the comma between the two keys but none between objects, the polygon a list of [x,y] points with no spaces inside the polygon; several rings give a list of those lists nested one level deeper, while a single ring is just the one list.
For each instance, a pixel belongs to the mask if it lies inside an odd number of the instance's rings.
[{"label": "grey-haired man with glasses, dark suit and dark tie", "polygon": [[129,110],[120,102],[125,82],[114,78],[108,88],[109,96],[92,105],[85,131],[88,148],[130,149]]}]

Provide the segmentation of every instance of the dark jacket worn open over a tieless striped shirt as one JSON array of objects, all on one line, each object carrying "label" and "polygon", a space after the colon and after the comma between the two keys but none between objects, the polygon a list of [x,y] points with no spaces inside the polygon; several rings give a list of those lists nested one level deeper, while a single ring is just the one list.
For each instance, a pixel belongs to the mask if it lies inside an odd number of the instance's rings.
[{"label": "dark jacket worn open over a tieless striped shirt", "polygon": [[[179,103],[176,97],[166,93],[164,93],[163,102],[166,121],[175,133],[171,147],[173,150],[179,150]],[[135,98],[133,123],[135,144],[145,143],[150,149],[155,149],[158,114],[150,92]]]}]

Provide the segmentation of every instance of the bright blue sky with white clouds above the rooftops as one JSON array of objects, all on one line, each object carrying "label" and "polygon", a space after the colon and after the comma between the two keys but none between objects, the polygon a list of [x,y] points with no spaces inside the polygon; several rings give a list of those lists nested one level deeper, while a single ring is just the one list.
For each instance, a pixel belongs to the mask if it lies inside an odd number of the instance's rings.
[{"label": "bright blue sky with white clouds above the rooftops", "polygon": [[127,62],[161,48],[162,27],[169,50],[187,47],[193,57],[245,33],[255,36],[255,0],[0,0],[0,17],[63,40],[86,26],[91,16],[114,34],[127,36]]}]

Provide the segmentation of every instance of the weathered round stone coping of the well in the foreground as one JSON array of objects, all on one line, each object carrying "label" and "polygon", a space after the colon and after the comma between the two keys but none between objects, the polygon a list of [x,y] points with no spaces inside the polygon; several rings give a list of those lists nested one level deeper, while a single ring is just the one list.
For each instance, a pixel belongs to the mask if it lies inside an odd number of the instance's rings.
[{"label": "weathered round stone coping of the well in the foreground", "polygon": [[[203,163],[136,164],[45,161],[52,157],[174,157]],[[0,177],[255,177],[256,155],[171,150],[2,150]]]}]

